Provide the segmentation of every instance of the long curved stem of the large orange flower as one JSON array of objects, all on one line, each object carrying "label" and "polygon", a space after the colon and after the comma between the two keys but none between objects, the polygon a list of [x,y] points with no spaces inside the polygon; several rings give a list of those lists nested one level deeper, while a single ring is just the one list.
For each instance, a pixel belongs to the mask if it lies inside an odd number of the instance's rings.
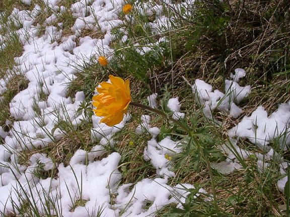
[{"label": "long curved stem of the large orange flower", "polygon": [[206,166],[207,166],[207,169],[208,169],[208,173],[209,173],[209,177],[210,177],[210,182],[211,182],[213,202],[214,202],[215,207],[217,209],[219,209],[218,203],[216,202],[216,191],[215,191],[215,186],[214,186],[214,182],[213,182],[213,174],[212,174],[212,169],[211,169],[211,166],[210,166],[210,162],[207,159],[207,157],[204,155],[203,149],[202,149],[201,145],[199,144],[198,139],[193,134],[192,130],[190,128],[188,128],[187,126],[182,125],[179,121],[171,118],[170,116],[166,115],[164,112],[162,112],[162,111],[160,111],[160,110],[158,110],[156,108],[153,108],[153,107],[150,107],[150,106],[147,106],[147,105],[143,105],[143,104],[140,104],[140,103],[137,103],[137,102],[130,102],[130,105],[137,106],[137,107],[142,108],[144,110],[147,110],[147,111],[156,113],[158,115],[161,115],[162,117],[166,118],[167,120],[172,121],[173,123],[175,123],[177,126],[182,128],[183,130],[185,130],[185,132],[187,132],[189,134],[189,136],[192,138],[193,142],[198,147],[198,150],[201,153],[202,158],[204,159],[204,161],[206,163]]}]

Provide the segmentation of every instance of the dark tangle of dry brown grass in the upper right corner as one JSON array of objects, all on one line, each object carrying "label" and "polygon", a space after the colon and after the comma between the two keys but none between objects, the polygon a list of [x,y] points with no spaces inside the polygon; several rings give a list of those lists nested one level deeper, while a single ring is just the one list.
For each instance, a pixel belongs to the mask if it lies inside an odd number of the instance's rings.
[{"label": "dark tangle of dry brown grass in the upper right corner", "polygon": [[[171,71],[160,73],[157,69],[153,73],[152,86],[162,86],[163,83],[180,86],[183,75],[189,80],[205,80],[221,90],[224,79],[235,68],[247,71],[247,77],[242,81],[245,85],[266,86],[269,83],[288,82],[284,76],[276,76],[275,73],[290,64],[290,24],[286,19],[290,14],[289,5],[282,0],[243,1],[244,4],[238,5],[239,2],[231,1],[228,9],[219,9],[209,1],[203,1],[200,10],[213,10],[216,19],[221,16],[227,20],[226,26],[212,24],[212,29],[206,31],[198,26],[200,21],[183,21],[183,25],[190,24],[188,31],[192,31],[192,38],[183,31],[173,32],[173,40],[177,37],[174,41],[177,47],[173,49],[183,49],[183,52],[176,56]],[[203,32],[194,39],[196,31]],[[192,42],[190,50],[183,47],[188,40],[197,40]],[[176,53],[176,50],[173,51]]]}]

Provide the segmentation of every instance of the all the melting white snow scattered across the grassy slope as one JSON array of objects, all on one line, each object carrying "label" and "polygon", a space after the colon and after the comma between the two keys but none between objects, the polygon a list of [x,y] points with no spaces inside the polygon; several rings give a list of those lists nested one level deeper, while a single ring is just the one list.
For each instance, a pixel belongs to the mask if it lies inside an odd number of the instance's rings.
[{"label": "all the melting white snow scattered across the grassy slope", "polygon": [[[31,4],[28,0],[22,2]],[[79,111],[80,104],[85,99],[84,92],[77,92],[74,99],[67,97],[68,83],[75,78],[77,69],[92,58],[112,55],[114,51],[109,45],[116,37],[111,30],[126,25],[126,20],[133,21],[130,15],[126,15],[124,20],[119,19],[122,6],[125,5],[122,0],[82,0],[70,7],[73,17],[76,18],[75,25],[71,28],[74,34],[62,36],[62,23],[56,26],[51,24],[57,23],[59,15],[65,13],[67,9],[57,6],[59,3],[57,0],[45,3],[55,13],[45,20],[45,32],[41,36],[39,36],[40,26],[35,23],[36,17],[41,13],[38,5],[32,11],[14,9],[10,16],[11,22],[19,28],[16,33],[23,43],[24,51],[22,56],[15,58],[14,69],[8,70],[6,76],[0,80],[0,94],[7,91],[6,84],[15,74],[25,76],[29,84],[10,102],[10,113],[16,120],[12,130],[5,132],[0,127],[0,136],[5,140],[5,143],[0,145],[0,213],[17,212],[17,207],[25,200],[37,207],[41,214],[57,213],[58,216],[64,217],[96,216],[101,211],[100,216],[149,216],[172,202],[181,207],[181,202],[185,201],[189,193],[187,189],[194,186],[188,183],[170,186],[168,177],[175,175],[170,170],[170,156],[182,152],[182,148],[178,141],[173,141],[170,137],[157,142],[156,136],[160,130],[151,127],[149,116],[141,117],[141,124],[137,126],[136,133],[149,132],[152,136],[144,149],[143,157],[156,168],[155,179],[143,179],[134,185],[122,184],[119,153],[95,160],[105,152],[103,145],[115,144],[112,136],[129,121],[129,115],[116,127],[100,124],[100,118],[93,117],[91,139],[96,146],[89,152],[78,150],[70,159],[69,166],[56,165],[43,153],[32,155],[30,166],[19,164],[20,151],[45,147],[62,138],[65,132],[57,128],[59,122],[71,123],[76,128],[81,122],[88,121],[85,113]],[[170,2],[167,1],[167,4]],[[135,10],[148,16],[153,13],[156,15],[156,20],[150,24],[153,32],[169,28],[169,25],[164,26],[167,18],[162,15],[162,6],[149,7],[145,4],[141,7],[136,3]],[[102,39],[81,37],[85,29],[101,31],[104,37]],[[120,31],[124,34],[121,40],[124,42],[128,38],[127,33],[122,28]],[[1,49],[5,49],[8,39],[9,34],[0,35]],[[207,118],[213,118],[211,111],[214,109],[228,112],[234,118],[241,115],[242,110],[236,103],[247,97],[250,92],[250,86],[241,87],[238,84],[239,78],[245,75],[243,69],[237,69],[235,75],[231,76],[233,80],[225,81],[225,93],[219,90],[212,91],[209,84],[195,80],[192,89],[196,100],[205,105],[203,112]],[[40,93],[44,93],[46,99],[43,99]],[[158,106],[156,96],[153,94],[148,97],[151,106]],[[40,114],[36,112],[36,106]],[[184,118],[185,114],[180,111],[178,97],[169,100],[168,108],[173,112],[174,119]],[[269,149],[267,146],[269,141],[285,135],[286,142],[281,138],[281,144],[288,144],[289,111],[290,105],[282,104],[277,112],[268,118],[263,108],[258,107],[251,117],[244,117],[241,123],[229,131],[229,137],[244,158],[252,153],[236,145],[239,138],[248,138],[259,148]],[[236,155],[226,145],[221,149],[228,154],[227,161],[223,162],[223,165],[214,164],[213,168],[222,173],[225,172],[223,170],[225,168],[227,168],[225,173],[241,168]],[[266,155],[257,154],[257,157],[262,161],[265,158],[271,159],[273,155],[273,150],[269,149]],[[280,161],[283,174],[287,164],[282,157]],[[57,177],[38,178],[34,171],[40,164],[44,165],[46,171],[57,168]],[[259,164],[258,161],[258,166],[263,169],[265,164]],[[281,191],[285,182],[286,177],[278,181]],[[199,191],[206,193],[202,188]],[[114,200],[112,195],[116,195]],[[85,201],[84,206],[78,205],[80,200]],[[152,203],[146,207],[148,201]]]}]

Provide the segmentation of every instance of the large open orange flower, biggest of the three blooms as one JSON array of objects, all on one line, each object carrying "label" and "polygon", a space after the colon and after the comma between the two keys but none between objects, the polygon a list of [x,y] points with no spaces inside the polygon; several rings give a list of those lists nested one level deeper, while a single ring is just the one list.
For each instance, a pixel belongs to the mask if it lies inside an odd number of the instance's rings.
[{"label": "large open orange flower, biggest of the three blooms", "polygon": [[97,87],[99,94],[93,96],[93,109],[96,116],[104,117],[101,123],[112,127],[119,124],[127,114],[127,107],[131,101],[129,80],[109,75],[110,81],[100,83]]}]

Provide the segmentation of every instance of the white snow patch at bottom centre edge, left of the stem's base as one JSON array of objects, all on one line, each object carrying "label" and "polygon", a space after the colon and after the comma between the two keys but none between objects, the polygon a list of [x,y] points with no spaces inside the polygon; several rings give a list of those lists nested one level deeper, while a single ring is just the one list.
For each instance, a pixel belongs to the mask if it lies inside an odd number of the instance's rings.
[{"label": "white snow patch at bottom centre edge, left of the stem's base", "polygon": [[[190,193],[190,189],[195,189],[190,184],[178,184],[171,187],[166,184],[167,179],[143,179],[133,186],[132,190],[128,190],[132,184],[122,185],[118,188],[116,204],[118,209],[125,209],[124,216],[145,217],[154,215],[167,204],[177,203],[177,207],[182,208],[182,203]],[[200,193],[206,193],[202,188],[198,190]],[[196,193],[195,197],[200,194]],[[171,198],[170,198],[171,197]],[[149,207],[146,204],[151,202]],[[145,208],[146,207],[146,208]]]}]

